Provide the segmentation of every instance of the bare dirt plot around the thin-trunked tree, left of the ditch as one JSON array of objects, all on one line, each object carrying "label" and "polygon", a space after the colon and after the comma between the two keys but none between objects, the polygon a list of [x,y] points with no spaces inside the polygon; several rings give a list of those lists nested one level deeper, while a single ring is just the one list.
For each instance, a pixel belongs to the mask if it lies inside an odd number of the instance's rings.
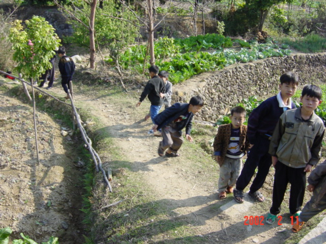
[{"label": "bare dirt plot around the thin-trunked tree, left of the ditch", "polygon": [[[2,84],[3,85],[3,84]],[[40,163],[33,108],[0,90],[0,228],[37,242],[83,243],[82,175],[75,137],[60,119],[37,111]],[[62,136],[61,131],[70,133]]]}]

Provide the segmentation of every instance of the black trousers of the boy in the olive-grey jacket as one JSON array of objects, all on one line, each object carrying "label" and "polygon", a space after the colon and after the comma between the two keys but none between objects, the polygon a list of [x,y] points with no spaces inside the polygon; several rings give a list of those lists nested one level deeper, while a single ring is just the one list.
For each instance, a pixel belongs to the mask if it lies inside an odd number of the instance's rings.
[{"label": "black trousers of the boy in the olive-grey jacket", "polygon": [[275,165],[274,187],[273,187],[273,203],[269,209],[270,214],[278,215],[281,211],[281,204],[287,184],[291,184],[289,209],[291,215],[301,209],[304,201],[306,189],[306,172],[305,168],[291,168],[277,162]]}]

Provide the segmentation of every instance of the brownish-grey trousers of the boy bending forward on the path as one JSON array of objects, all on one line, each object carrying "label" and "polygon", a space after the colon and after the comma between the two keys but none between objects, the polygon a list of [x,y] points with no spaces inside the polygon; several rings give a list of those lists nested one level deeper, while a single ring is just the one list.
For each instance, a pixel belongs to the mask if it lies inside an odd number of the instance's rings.
[{"label": "brownish-grey trousers of the boy bending forward on the path", "polygon": [[170,147],[172,153],[177,153],[183,143],[183,139],[174,123],[162,128],[162,137],[163,140],[159,143],[160,148],[165,151]]}]

